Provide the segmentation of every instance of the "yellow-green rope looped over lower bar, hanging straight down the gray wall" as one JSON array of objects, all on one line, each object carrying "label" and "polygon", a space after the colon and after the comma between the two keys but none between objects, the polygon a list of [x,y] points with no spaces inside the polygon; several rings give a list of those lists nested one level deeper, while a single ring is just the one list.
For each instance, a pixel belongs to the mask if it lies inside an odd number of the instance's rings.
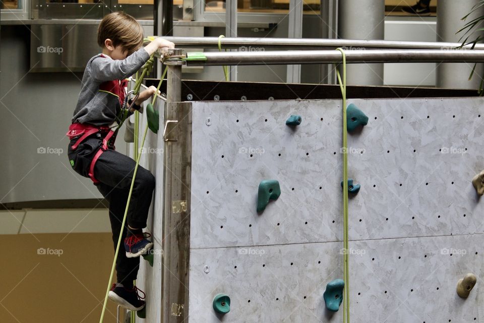
[{"label": "yellow-green rope looped over lower bar, hanging straight down the gray wall", "polygon": [[343,323],[349,323],[349,248],[348,248],[348,154],[346,129],[346,55],[342,48],[336,48],[343,57],[343,80],[336,70],[341,94],[343,95]]}]

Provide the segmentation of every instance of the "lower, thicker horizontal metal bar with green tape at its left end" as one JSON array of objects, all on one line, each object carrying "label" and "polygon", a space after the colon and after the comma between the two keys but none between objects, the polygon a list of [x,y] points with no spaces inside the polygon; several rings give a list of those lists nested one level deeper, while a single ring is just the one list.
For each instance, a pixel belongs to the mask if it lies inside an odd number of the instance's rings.
[{"label": "lower, thicker horizontal metal bar with green tape at its left end", "polygon": [[[346,50],[347,63],[482,63],[482,49],[369,49]],[[205,52],[205,60],[190,60],[188,66],[285,65],[341,63],[337,50],[228,51]]]}]

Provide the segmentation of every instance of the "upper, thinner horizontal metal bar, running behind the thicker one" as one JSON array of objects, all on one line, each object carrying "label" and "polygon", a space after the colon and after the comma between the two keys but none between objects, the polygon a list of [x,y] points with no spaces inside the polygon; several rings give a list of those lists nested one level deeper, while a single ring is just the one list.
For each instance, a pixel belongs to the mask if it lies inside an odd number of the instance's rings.
[{"label": "upper, thinner horizontal metal bar, running behind the thicker one", "polygon": [[[218,48],[218,37],[164,37],[181,48]],[[266,49],[324,49],[343,47],[345,49],[451,49],[460,46],[454,42],[423,41],[388,41],[355,39],[319,39],[319,38],[222,38],[222,48],[250,50],[255,47]],[[467,45],[470,47],[471,45]],[[246,47],[246,48],[244,48]],[[475,49],[484,49],[484,44],[477,44]]]}]

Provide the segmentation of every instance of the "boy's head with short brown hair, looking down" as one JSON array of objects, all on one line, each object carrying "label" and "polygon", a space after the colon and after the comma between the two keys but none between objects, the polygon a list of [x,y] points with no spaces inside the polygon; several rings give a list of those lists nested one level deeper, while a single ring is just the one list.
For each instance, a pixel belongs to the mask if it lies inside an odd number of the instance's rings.
[{"label": "boy's head with short brown hair, looking down", "polygon": [[109,51],[113,60],[124,60],[143,45],[143,28],[132,16],[113,12],[99,24],[97,43]]}]

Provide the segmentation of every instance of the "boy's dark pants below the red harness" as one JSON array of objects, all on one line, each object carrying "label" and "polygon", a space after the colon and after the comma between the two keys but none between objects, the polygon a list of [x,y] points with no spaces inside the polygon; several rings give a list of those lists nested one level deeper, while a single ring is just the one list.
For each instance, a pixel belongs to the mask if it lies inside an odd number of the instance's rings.
[{"label": "boy's dark pants below the red harness", "polygon": [[[91,160],[100,147],[101,139],[92,136],[82,142],[76,150],[72,150],[71,146],[75,142],[76,139],[73,139],[69,144],[69,159],[74,160],[73,169],[77,173],[88,177]],[[116,249],[123,223],[135,165],[136,162],[132,158],[110,147],[101,154],[94,166],[94,177],[99,181],[95,185],[102,196],[109,202],[109,221],[111,223],[114,250]],[[133,280],[138,275],[140,265],[139,257],[126,257],[124,239],[126,238],[127,227],[128,225],[136,229],[146,227],[154,188],[154,176],[148,170],[139,166],[116,259],[117,282],[123,285],[131,286],[133,284]]]}]

